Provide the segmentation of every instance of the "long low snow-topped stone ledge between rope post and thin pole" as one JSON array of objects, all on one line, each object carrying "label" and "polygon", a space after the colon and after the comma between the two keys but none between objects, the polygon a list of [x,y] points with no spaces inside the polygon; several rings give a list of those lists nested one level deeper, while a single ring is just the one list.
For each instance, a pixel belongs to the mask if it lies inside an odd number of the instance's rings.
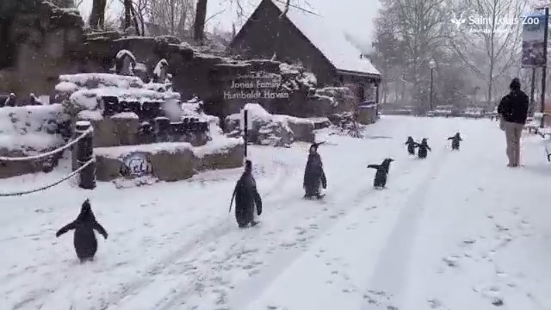
[{"label": "long low snow-topped stone ledge between rope post and thin pole", "polygon": [[244,156],[241,138],[217,137],[206,145],[193,147],[187,142],[97,147],[97,180],[121,177],[124,158],[133,152],[147,154],[154,178],[164,181],[185,180],[196,172],[241,167]]}]

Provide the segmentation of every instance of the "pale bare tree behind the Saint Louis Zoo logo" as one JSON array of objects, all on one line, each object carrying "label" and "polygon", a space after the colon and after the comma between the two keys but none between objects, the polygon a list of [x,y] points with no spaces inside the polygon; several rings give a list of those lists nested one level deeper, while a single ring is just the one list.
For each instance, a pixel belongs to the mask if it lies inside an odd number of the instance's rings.
[{"label": "pale bare tree behind the Saint Louis Zoo logo", "polygon": [[[464,0],[461,0],[464,1]],[[466,0],[471,8],[468,29],[460,28],[450,40],[464,65],[486,84],[492,105],[495,83],[517,72],[521,46],[521,20],[526,0]]]}]

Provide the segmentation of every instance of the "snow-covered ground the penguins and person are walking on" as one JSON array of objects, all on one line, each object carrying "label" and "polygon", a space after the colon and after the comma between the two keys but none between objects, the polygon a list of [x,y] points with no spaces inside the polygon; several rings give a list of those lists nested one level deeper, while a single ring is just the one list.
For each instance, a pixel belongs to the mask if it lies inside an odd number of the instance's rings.
[{"label": "snow-covered ground the penguins and person are walking on", "polygon": [[[461,132],[460,152],[448,136]],[[409,158],[407,136],[428,138]],[[0,198],[0,309],[551,309],[551,164],[523,140],[506,167],[504,137],[486,119],[383,116],[365,139],[322,132],[324,200],[302,200],[308,145],[251,147],[262,224],[227,213],[241,169],[178,183],[94,191],[62,184]],[[386,156],[388,188],[366,165]],[[65,174],[0,180],[1,192]],[[90,197],[109,238],[79,265],[72,234],[56,239]]]}]

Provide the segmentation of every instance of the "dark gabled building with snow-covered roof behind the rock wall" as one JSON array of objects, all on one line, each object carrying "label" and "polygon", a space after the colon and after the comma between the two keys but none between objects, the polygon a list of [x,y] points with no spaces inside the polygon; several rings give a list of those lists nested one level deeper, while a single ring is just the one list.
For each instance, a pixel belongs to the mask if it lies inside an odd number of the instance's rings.
[{"label": "dark gabled building with snow-covered roof behind the rock wall", "polygon": [[[351,87],[360,102],[377,101],[381,74],[337,23],[319,14],[290,7],[282,18],[283,1],[262,0],[229,44],[246,59],[270,59],[277,48],[280,61],[301,63],[318,85]],[[279,46],[276,37],[280,30]]]}]

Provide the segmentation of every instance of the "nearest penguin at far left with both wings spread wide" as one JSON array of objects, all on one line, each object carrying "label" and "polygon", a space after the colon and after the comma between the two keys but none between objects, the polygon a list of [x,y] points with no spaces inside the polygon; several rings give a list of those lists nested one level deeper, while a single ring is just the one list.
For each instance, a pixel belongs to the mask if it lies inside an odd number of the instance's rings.
[{"label": "nearest penguin at far left with both wings spread wide", "polygon": [[98,241],[94,229],[98,231],[103,238],[107,239],[107,231],[96,220],[90,200],[86,199],[81,207],[81,213],[76,217],[76,220],[61,227],[56,232],[56,238],[65,234],[67,231],[74,229],[74,251],[76,256],[81,260],[81,263],[86,260],[94,260],[94,255],[98,249]]}]

